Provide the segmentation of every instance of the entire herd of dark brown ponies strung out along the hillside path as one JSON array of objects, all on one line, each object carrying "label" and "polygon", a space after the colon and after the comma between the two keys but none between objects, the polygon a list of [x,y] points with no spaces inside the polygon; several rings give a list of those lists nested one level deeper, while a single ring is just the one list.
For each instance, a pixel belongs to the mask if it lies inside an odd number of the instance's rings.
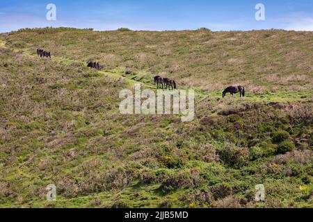
[{"label": "entire herd of dark brown ponies strung out along the hillside path", "polygon": [[[37,49],[37,56],[40,58],[42,57],[47,57],[47,58],[51,58],[51,53],[49,51],[45,51],[43,49]],[[87,67],[90,67],[90,69],[97,69],[100,70],[101,67],[99,65],[99,62],[93,62],[93,61],[88,61],[87,62]],[[154,83],[157,84],[157,89],[177,89],[177,85],[175,80],[172,80],[170,78],[162,78],[161,76],[155,76],[154,77]],[[240,97],[245,96],[245,88],[241,85],[237,85],[237,86],[229,86],[226,89],[224,89],[223,91],[223,98],[226,96],[227,93],[230,93],[232,96],[234,96],[234,94],[239,93]]]}]

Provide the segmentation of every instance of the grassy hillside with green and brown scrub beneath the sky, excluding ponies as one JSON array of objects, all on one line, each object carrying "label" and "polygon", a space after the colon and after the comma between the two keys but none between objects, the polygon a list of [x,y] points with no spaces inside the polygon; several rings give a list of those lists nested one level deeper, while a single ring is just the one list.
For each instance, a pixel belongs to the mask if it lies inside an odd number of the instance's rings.
[{"label": "grassy hillside with green and brown scrub beneath the sky, excluding ponies", "polygon": [[[1,34],[0,207],[313,207],[312,58],[312,32]],[[194,121],[120,114],[156,74],[195,89]]]}]

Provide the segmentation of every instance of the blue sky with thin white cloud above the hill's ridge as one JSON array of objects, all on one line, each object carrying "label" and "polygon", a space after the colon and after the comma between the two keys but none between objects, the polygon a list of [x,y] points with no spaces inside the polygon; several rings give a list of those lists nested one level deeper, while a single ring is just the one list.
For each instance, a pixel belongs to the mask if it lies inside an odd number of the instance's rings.
[{"label": "blue sky with thin white cloud above the hill's ridge", "polygon": [[[56,5],[56,21],[46,6]],[[255,20],[255,5],[265,6],[265,21]],[[282,28],[313,31],[312,0],[1,0],[0,33],[19,28],[67,26],[115,30],[213,31]]]}]

